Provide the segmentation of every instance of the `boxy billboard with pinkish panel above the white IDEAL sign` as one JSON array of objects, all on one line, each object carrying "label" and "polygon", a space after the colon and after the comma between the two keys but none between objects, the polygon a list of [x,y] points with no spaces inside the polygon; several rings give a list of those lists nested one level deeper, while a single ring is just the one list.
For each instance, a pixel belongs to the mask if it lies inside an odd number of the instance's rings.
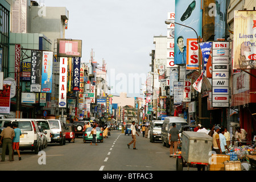
[{"label": "boxy billboard with pinkish panel above the white IDEAL sign", "polygon": [[57,39],[57,56],[82,57],[82,40]]}]

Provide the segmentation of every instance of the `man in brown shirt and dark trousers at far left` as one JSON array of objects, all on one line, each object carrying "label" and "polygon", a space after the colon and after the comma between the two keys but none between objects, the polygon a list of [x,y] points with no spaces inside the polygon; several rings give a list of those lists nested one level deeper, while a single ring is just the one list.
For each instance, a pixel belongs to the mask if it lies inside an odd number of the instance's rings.
[{"label": "man in brown shirt and dark trousers at far left", "polygon": [[5,162],[5,153],[6,153],[6,148],[8,147],[9,149],[9,160],[10,162],[13,161],[13,138],[15,137],[14,129],[11,128],[11,122],[7,122],[7,127],[3,129],[2,133],[0,134],[1,139],[0,139],[0,145],[3,144],[2,148],[2,160],[1,162]]}]

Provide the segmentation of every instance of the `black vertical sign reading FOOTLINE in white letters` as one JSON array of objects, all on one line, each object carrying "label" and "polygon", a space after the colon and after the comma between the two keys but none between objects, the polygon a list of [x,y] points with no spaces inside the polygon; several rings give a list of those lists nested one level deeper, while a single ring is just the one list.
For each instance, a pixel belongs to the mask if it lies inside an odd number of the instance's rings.
[{"label": "black vertical sign reading FOOTLINE in white letters", "polygon": [[31,84],[30,92],[41,92],[42,51],[31,51]]}]

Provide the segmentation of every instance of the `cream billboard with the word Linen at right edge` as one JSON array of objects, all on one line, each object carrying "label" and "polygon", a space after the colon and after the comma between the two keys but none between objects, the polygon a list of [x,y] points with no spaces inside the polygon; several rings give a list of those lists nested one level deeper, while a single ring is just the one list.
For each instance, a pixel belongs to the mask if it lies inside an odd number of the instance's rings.
[{"label": "cream billboard with the word Linen at right edge", "polygon": [[234,11],[233,69],[256,68],[256,11]]}]

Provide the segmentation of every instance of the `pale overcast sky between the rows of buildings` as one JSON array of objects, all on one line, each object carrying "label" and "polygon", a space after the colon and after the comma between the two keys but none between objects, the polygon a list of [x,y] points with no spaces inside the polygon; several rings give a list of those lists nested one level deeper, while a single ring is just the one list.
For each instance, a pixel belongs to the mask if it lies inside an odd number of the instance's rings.
[{"label": "pale overcast sky between the rows of buildings", "polygon": [[82,61],[89,62],[92,49],[99,67],[103,59],[106,61],[108,84],[113,87],[111,94],[126,92],[129,97],[143,97],[141,84],[151,71],[154,36],[167,35],[164,20],[168,12],[174,11],[175,0],[44,0],[44,3],[67,8],[65,38],[82,40]]}]

